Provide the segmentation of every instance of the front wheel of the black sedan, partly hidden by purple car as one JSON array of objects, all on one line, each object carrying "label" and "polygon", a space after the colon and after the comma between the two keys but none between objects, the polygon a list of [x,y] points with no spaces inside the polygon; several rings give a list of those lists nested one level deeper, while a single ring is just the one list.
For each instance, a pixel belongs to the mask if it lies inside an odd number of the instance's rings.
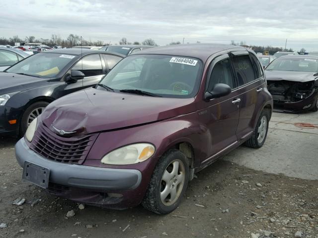
[{"label": "front wheel of the black sedan, partly hidden by purple car", "polygon": [[[48,105],[49,105],[48,102],[43,102],[43,101],[36,102],[36,103],[31,104],[24,111],[23,116],[21,118],[21,122],[20,122],[20,131],[19,131],[20,136],[24,135],[29,124],[35,118],[34,116],[38,117],[42,113],[43,109],[46,108],[46,106],[48,106]],[[36,113],[36,112],[38,112],[38,113]],[[33,119],[31,119],[31,118],[33,118]]]}]

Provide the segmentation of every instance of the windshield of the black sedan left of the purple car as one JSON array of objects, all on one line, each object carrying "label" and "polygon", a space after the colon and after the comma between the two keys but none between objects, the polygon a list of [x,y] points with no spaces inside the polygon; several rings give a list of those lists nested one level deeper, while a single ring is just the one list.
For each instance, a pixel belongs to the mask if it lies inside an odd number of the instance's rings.
[{"label": "windshield of the black sedan left of the purple car", "polygon": [[40,53],[22,60],[6,71],[41,78],[55,77],[76,56],[56,53]]}]

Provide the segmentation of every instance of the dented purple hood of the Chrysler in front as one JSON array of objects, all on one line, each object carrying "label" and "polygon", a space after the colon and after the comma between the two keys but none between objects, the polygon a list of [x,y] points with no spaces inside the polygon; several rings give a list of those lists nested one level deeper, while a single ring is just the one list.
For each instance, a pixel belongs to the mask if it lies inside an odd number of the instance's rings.
[{"label": "dented purple hood of the Chrysler in front", "polygon": [[41,119],[52,131],[86,134],[191,113],[195,111],[193,102],[194,98],[149,97],[90,88],[54,101],[42,113]]}]

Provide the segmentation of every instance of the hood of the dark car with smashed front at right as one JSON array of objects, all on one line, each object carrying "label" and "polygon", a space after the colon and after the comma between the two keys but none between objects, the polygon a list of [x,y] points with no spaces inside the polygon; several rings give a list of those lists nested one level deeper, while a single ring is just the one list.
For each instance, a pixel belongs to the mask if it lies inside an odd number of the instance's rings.
[{"label": "hood of the dark car with smashed front at right", "polygon": [[279,81],[287,80],[294,82],[309,82],[315,80],[314,72],[265,70],[266,80]]}]

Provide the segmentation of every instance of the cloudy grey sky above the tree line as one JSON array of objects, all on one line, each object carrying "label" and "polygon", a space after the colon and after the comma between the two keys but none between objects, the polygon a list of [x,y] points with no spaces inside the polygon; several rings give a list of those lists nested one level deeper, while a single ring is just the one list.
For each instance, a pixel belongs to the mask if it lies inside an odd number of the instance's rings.
[{"label": "cloudy grey sky above the tree line", "polygon": [[0,37],[69,34],[118,44],[246,42],[318,51],[316,0],[10,0],[1,2]]}]

